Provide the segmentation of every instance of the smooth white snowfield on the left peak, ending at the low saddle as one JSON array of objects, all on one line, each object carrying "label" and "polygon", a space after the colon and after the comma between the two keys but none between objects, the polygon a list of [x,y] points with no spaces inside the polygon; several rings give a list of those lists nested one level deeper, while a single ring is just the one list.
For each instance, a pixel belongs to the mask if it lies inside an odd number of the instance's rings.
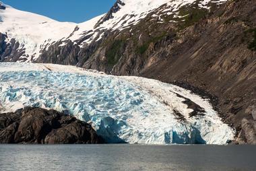
[{"label": "smooth white snowfield on the left peak, ending at the low saddle", "polygon": [[76,24],[71,22],[57,22],[51,18],[35,13],[20,11],[6,5],[5,10],[0,9],[0,32],[7,33],[7,43],[14,38],[20,46],[26,48],[26,55],[30,58],[42,48],[46,40],[49,44],[61,40],[71,34]]}]

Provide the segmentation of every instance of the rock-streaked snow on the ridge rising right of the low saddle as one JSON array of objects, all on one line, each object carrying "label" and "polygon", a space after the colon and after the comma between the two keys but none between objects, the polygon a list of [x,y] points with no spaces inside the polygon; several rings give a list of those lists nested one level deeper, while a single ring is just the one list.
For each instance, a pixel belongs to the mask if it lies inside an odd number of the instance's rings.
[{"label": "rock-streaked snow on the ridge rising right of the low saddle", "polygon": [[[120,2],[119,2],[120,1]],[[184,5],[189,5],[195,3],[197,0],[119,0],[117,5],[119,5],[119,10],[111,13],[112,17],[108,18],[106,21],[101,21],[108,16],[108,13],[100,15],[88,22],[78,24],[79,31],[75,33],[74,36],[69,38],[70,40],[77,40],[82,36],[90,35],[90,38],[84,40],[82,44],[90,44],[92,40],[98,41],[102,37],[102,30],[124,30],[130,26],[136,25],[141,19],[146,18],[146,16],[152,11],[158,9],[162,5],[165,5],[162,12],[168,15],[174,14],[174,16],[179,17],[179,9]],[[201,0],[199,2],[199,7],[210,9],[208,3],[224,3],[227,0]],[[120,4],[122,3],[122,4]],[[152,15],[153,17],[153,15]],[[157,13],[154,13],[154,17],[160,17]],[[98,25],[98,22],[100,24]],[[97,25],[96,25],[97,24]],[[85,34],[91,30],[92,32]],[[104,34],[104,33],[103,33]],[[97,40],[96,40],[97,38]]]}]

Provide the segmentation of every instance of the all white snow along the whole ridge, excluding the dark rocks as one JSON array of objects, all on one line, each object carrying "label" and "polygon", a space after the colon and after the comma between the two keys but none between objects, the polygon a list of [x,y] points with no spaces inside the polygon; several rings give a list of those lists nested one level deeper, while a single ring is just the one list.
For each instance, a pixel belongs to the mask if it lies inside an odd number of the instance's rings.
[{"label": "all white snow along the whole ridge, excluding the dark rocks", "polygon": [[[93,40],[98,41],[102,38],[104,30],[123,30],[135,25],[139,20],[146,18],[148,13],[158,9],[162,5],[166,5],[164,11],[171,15],[175,13],[183,5],[191,4],[196,0],[120,0],[124,5],[119,5],[119,10],[112,13],[110,18],[94,28],[101,18],[106,14],[99,15],[92,20],[81,24],[71,22],[57,22],[51,18],[42,15],[20,11],[9,5],[5,5],[6,9],[0,9],[0,32],[7,33],[7,43],[11,38],[20,42],[20,48],[26,50],[26,61],[36,60],[40,55],[40,50],[48,48],[51,44],[58,41],[79,40],[83,36],[90,36],[84,40],[83,44],[90,44]],[[209,2],[223,3],[226,0],[202,0],[200,7],[208,8]],[[158,16],[155,13],[156,17]],[[78,28],[78,30],[75,30]],[[102,33],[103,32],[103,33]],[[21,57],[24,60],[24,57]]]}]

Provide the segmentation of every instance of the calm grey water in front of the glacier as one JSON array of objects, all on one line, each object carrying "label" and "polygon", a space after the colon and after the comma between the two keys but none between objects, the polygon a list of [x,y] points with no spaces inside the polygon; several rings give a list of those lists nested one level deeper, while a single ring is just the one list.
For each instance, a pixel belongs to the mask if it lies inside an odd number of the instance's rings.
[{"label": "calm grey water in front of the glacier", "polygon": [[256,170],[256,146],[0,145],[0,170]]}]

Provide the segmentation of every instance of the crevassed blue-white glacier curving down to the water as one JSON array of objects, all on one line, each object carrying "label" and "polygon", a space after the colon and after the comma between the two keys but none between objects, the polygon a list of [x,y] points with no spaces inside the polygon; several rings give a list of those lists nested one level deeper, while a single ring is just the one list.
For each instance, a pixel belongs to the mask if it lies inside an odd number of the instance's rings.
[{"label": "crevassed blue-white glacier curving down to the water", "polygon": [[[191,116],[186,100],[201,113]],[[207,99],[172,84],[73,66],[0,63],[0,111],[24,106],[71,114],[108,143],[225,144],[235,134]]]}]

